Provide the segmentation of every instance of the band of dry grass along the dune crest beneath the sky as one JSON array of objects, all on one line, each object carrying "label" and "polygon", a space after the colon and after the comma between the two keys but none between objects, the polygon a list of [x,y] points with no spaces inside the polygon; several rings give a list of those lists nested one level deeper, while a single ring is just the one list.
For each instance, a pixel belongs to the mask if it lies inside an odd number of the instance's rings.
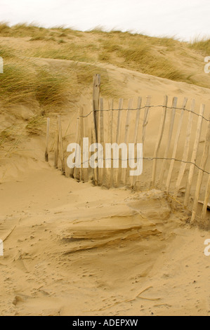
[{"label": "band of dry grass along the dune crest beneath the sky", "polygon": [[[92,64],[96,61],[109,62],[157,77],[202,86],[203,82],[190,79],[191,73],[185,72],[179,63],[184,63],[186,56],[192,58],[191,50],[207,55],[210,53],[209,39],[197,39],[188,44],[175,37],[157,38],[130,32],[105,32],[100,26],[88,32],[79,32],[62,26],[45,29],[19,24],[9,27],[3,22],[0,24],[0,36],[30,37],[29,41],[33,41],[35,46],[29,46],[26,52],[28,56]],[[175,54],[178,56],[176,62],[171,60]]]}]

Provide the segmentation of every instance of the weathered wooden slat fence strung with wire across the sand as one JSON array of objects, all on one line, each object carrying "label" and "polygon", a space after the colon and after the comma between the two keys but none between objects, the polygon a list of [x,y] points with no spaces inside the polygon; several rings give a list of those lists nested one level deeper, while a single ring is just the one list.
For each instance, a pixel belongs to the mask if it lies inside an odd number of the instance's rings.
[{"label": "weathered wooden slat fence strung with wire across the sand", "polygon": [[[81,168],[74,167],[70,171],[70,176],[82,182],[87,182],[91,178],[95,185],[107,189],[128,187],[138,191],[157,188],[164,190],[173,199],[181,197],[182,192],[183,206],[192,212],[191,223],[195,223],[198,219],[204,223],[210,197],[209,110],[209,116],[205,117],[205,105],[201,105],[198,114],[195,112],[195,100],[191,101],[188,108],[187,98],[184,98],[181,107],[178,107],[176,97],[173,98],[170,106],[168,96],[164,96],[162,105],[152,105],[150,96],[146,98],[144,105],[141,97],[138,98],[136,107],[133,106],[133,102],[132,98],[128,103],[120,98],[118,105],[114,106],[113,100],[106,101],[100,98],[100,76],[94,77],[91,109],[88,113],[84,113],[84,107],[79,108],[75,142],[81,146],[81,155],[85,158],[88,155],[84,155],[82,149],[83,138],[89,138],[89,145],[100,143],[103,149],[98,151],[98,159],[103,159],[103,167],[87,169],[81,157]],[[162,114],[157,111],[160,107]],[[156,117],[157,125],[154,128]],[[150,126],[152,119],[153,126]],[[48,161],[49,128],[48,119],[46,161]],[[66,161],[60,116],[57,121],[57,132],[54,165],[58,168],[60,155],[60,167],[65,173]],[[106,168],[105,143],[117,143],[117,145],[133,143],[135,146],[137,143],[143,143],[142,176],[129,176],[129,152],[126,159],[124,157],[117,159],[121,161],[118,168],[113,167],[114,159],[110,159],[111,168]],[[151,150],[153,150],[152,154]],[[78,150],[76,154],[77,152]],[[133,161],[137,161],[136,154]],[[199,200],[201,195],[202,210]]]}]

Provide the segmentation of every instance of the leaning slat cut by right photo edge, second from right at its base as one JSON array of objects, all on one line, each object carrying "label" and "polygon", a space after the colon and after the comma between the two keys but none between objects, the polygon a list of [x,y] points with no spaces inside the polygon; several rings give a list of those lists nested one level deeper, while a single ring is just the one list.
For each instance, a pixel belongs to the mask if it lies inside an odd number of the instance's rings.
[{"label": "leaning slat cut by right photo edge, second from right at its base", "polygon": [[197,186],[196,186],[196,190],[195,190],[195,197],[194,197],[194,204],[192,207],[192,218],[191,218],[191,223],[195,222],[195,218],[197,216],[197,206],[198,206],[198,201],[199,201],[199,193],[201,190],[201,186],[202,186],[202,180],[203,180],[203,176],[204,176],[204,171],[206,168],[206,162],[208,160],[209,157],[209,147],[210,147],[210,114],[209,114],[209,124],[207,127],[207,132],[206,132],[206,140],[205,140],[205,144],[204,144],[204,152],[202,154],[202,161],[200,164],[200,169],[199,169],[199,173],[198,173],[198,178],[197,178]]}]

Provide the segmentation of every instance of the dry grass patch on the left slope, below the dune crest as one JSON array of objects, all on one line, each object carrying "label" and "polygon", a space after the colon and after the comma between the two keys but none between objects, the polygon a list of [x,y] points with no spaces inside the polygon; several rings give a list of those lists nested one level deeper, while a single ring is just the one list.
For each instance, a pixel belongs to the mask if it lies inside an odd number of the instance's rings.
[{"label": "dry grass patch on the left slope, below the dune crest", "polygon": [[[108,77],[105,69],[94,65],[70,62],[67,69],[38,65],[36,60],[24,60],[15,57],[15,51],[1,45],[1,55],[6,62],[4,74],[0,75],[1,109],[11,117],[11,105],[24,104],[29,108],[36,105],[37,113],[22,124],[10,124],[0,128],[0,150],[10,154],[18,147],[18,143],[27,135],[41,135],[46,126],[46,117],[52,112],[60,112],[63,105],[75,103],[84,88],[92,86],[93,74],[102,76],[102,95],[117,97],[114,82]],[[37,107],[37,104],[39,107]],[[20,117],[17,117],[21,121]]]}]

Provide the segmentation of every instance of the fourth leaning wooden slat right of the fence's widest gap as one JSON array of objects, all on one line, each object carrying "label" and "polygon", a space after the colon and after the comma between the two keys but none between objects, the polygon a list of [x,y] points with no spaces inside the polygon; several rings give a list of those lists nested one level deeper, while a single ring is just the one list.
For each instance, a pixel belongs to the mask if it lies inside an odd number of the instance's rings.
[{"label": "fourth leaning wooden slat right of the fence's widest gap", "polygon": [[185,169],[187,166],[187,161],[188,161],[188,156],[189,156],[189,151],[190,151],[190,138],[192,135],[192,119],[193,119],[192,112],[195,112],[195,100],[192,100],[191,111],[189,112],[189,115],[188,115],[188,128],[187,128],[186,139],[185,139],[183,159],[182,159],[180,170],[178,173],[178,179],[176,181],[175,191],[173,193],[174,197],[177,197],[177,195],[178,195],[178,191],[180,190],[181,182],[183,180],[183,176],[184,176]]}]

